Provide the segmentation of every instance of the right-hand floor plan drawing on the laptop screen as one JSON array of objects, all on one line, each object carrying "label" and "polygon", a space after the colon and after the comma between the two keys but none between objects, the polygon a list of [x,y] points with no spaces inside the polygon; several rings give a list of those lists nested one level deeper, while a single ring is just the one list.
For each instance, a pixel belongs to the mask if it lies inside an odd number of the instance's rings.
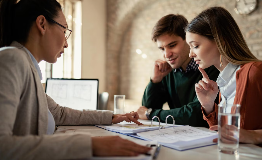
[{"label": "right-hand floor plan drawing on the laptop screen", "polygon": [[91,101],[92,86],[91,85],[74,85],[73,97],[76,99]]}]

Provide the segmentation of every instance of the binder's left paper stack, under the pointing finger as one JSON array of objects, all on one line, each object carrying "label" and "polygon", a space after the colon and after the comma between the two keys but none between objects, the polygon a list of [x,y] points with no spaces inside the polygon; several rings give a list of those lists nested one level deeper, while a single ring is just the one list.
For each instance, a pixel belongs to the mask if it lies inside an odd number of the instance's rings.
[{"label": "binder's left paper stack, under the pointing finger", "polygon": [[[175,126],[181,126],[181,125],[175,125]],[[166,127],[164,123],[161,123],[160,128],[161,127],[165,127],[165,128],[172,127],[173,128],[173,124],[168,124]],[[113,131],[113,132],[122,133],[122,134],[136,134],[140,132],[158,130],[159,123],[158,122],[154,123],[153,127],[151,126],[151,123],[146,123],[141,126],[138,124],[110,125],[110,126],[105,126],[104,129]]]}]

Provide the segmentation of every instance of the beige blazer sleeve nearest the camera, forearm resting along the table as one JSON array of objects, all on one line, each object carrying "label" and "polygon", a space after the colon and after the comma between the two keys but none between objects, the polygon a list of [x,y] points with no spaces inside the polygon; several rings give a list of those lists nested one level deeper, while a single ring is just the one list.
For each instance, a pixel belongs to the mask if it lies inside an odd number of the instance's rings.
[{"label": "beige blazer sleeve nearest the camera, forearm resting along the table", "polygon": [[0,52],[0,159],[59,160],[91,157],[90,135],[14,135],[16,114],[23,114],[17,113],[20,96],[31,71],[27,64],[26,58],[19,54],[19,49]]}]

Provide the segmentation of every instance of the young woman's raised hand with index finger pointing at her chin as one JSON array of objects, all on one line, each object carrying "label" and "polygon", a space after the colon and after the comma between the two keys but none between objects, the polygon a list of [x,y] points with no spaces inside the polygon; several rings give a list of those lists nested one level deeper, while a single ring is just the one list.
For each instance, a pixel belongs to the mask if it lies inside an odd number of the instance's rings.
[{"label": "young woman's raised hand with index finger pointing at her chin", "polygon": [[198,67],[198,69],[202,73],[203,78],[195,84],[196,96],[206,111],[206,114],[209,115],[214,110],[214,101],[219,90],[217,83],[209,79],[205,70],[200,67]]}]

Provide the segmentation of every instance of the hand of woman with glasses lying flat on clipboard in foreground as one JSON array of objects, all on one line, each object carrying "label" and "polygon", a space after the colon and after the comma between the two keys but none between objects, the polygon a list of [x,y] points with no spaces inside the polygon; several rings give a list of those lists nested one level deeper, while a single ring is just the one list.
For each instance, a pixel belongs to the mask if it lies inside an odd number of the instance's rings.
[{"label": "hand of woman with glasses lying flat on clipboard in foreground", "polygon": [[151,150],[119,136],[92,137],[94,156],[137,156]]}]

